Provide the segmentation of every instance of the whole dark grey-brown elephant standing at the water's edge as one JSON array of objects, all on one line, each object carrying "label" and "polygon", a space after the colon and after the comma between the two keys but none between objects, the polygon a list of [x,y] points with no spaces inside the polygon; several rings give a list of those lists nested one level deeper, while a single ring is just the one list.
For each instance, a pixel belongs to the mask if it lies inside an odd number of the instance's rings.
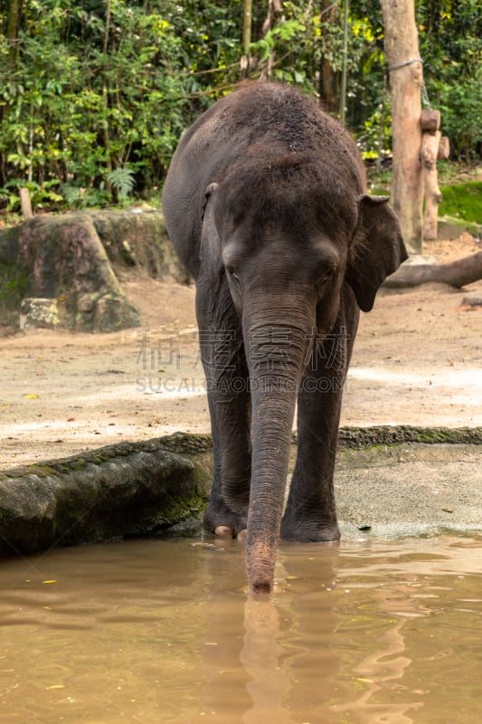
[{"label": "whole dark grey-brown elephant standing at the water's edge", "polygon": [[407,258],[386,201],[364,195],[346,130],[277,83],[242,85],[216,102],[169,169],[165,224],[196,281],[213,427],[204,524],[232,537],[247,529],[251,593],[272,591],[279,535],[340,536],[333,472],[359,309],[372,309]]}]

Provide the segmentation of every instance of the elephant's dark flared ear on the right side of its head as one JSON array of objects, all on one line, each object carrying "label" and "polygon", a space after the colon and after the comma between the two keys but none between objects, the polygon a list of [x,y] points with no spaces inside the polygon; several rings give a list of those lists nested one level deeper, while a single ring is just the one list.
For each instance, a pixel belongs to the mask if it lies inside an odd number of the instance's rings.
[{"label": "elephant's dark flared ear on the right side of its head", "polygon": [[346,266],[346,281],[363,311],[373,308],[383,281],[408,259],[398,219],[388,196],[358,197],[358,225]]}]

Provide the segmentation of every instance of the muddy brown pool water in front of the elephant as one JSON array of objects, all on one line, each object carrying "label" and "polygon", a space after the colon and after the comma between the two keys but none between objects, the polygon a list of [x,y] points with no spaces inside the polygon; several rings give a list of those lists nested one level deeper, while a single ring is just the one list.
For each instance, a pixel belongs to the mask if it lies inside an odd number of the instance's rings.
[{"label": "muddy brown pool water in front of the elephant", "polygon": [[482,537],[284,544],[277,581],[231,541],[1,562],[0,722],[480,722]]}]

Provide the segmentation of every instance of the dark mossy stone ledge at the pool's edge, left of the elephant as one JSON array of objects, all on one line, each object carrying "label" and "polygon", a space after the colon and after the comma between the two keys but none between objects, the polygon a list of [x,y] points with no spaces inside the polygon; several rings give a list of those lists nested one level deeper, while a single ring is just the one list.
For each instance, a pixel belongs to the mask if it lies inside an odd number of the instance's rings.
[{"label": "dark mossy stone ledge at the pool's edge, left of the elephant", "polygon": [[0,556],[147,534],[193,517],[207,497],[203,446],[191,445],[189,456],[168,448],[162,439],[119,443],[0,472]]}]

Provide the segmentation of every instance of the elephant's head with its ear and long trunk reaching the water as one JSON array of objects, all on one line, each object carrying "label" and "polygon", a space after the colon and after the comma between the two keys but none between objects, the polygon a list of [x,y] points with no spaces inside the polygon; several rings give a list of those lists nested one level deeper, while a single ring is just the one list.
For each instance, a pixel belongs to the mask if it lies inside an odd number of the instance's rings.
[{"label": "elephant's head with its ear and long trunk reaching the water", "polygon": [[253,593],[273,586],[292,424],[313,329],[329,333],[348,298],[371,310],[385,277],[407,258],[387,199],[364,194],[363,184],[350,153],[327,163],[254,147],[205,189],[204,265],[227,279],[250,374],[246,565]]}]

